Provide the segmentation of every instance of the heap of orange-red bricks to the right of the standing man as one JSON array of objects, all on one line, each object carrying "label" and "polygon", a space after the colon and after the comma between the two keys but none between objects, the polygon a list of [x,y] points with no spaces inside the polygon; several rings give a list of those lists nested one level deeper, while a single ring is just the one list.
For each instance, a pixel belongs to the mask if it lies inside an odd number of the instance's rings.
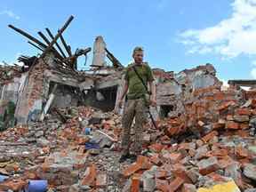
[{"label": "heap of orange-red bricks to the right of the standing man", "polygon": [[159,122],[160,130],[145,137],[151,138],[146,155],[122,172],[130,178],[126,188],[142,191],[142,183],[143,191],[256,190],[254,95],[216,87],[193,92],[183,102],[186,113]]}]

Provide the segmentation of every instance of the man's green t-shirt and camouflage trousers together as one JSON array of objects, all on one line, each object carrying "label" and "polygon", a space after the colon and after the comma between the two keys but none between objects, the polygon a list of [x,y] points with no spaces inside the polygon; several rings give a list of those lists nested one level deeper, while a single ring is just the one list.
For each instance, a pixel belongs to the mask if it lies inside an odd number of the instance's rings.
[{"label": "man's green t-shirt and camouflage trousers together", "polygon": [[[149,81],[154,80],[151,69],[147,63],[143,63],[141,66],[137,66],[136,69],[138,70],[139,75],[145,81],[145,84],[148,84]],[[122,118],[123,135],[121,147],[123,149],[123,155],[129,153],[131,144],[131,126],[133,118],[135,117],[133,152],[136,155],[140,155],[142,149],[143,125],[147,121],[146,113],[148,107],[146,106],[146,90],[140,79],[138,79],[138,76],[134,74],[131,66],[128,66],[124,79],[128,81],[129,92],[127,94],[128,100],[124,105],[124,113]]]}]

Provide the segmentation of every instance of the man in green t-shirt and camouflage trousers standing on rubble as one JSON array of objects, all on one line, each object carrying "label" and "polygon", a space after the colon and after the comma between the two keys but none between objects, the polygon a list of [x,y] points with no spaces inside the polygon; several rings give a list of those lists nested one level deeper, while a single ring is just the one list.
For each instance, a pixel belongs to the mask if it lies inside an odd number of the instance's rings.
[{"label": "man in green t-shirt and camouflage trousers standing on rubble", "polygon": [[[146,123],[146,112],[149,107],[148,104],[156,106],[156,87],[154,84],[154,77],[151,68],[147,62],[143,62],[143,49],[135,47],[132,53],[134,62],[130,64],[124,75],[123,93],[118,100],[118,106],[122,107],[124,96],[126,95],[126,103],[124,105],[124,113],[122,118],[123,135],[122,135],[122,156],[119,159],[123,163],[130,158],[136,161],[137,156],[142,150],[142,132],[143,124]],[[143,81],[143,82],[142,82]],[[146,86],[149,84],[149,93]],[[150,96],[150,98],[148,97]],[[148,102],[149,101],[149,102]],[[135,117],[135,136],[134,136],[134,154],[130,154],[130,134],[133,118]]]}]

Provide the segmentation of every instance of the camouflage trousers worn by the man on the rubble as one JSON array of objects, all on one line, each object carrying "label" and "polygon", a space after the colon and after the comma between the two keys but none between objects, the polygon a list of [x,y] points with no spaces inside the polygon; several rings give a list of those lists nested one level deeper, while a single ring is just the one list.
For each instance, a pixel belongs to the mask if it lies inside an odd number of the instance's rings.
[{"label": "camouflage trousers worn by the man on the rubble", "polygon": [[135,117],[135,126],[134,126],[134,145],[133,152],[136,155],[140,155],[142,150],[142,132],[143,125],[147,121],[146,116],[147,108],[145,106],[145,100],[137,99],[137,100],[127,100],[124,105],[124,113],[122,117],[122,125],[123,125],[123,134],[122,134],[122,154],[125,155],[129,153],[130,145],[131,145],[131,126],[133,119]]}]

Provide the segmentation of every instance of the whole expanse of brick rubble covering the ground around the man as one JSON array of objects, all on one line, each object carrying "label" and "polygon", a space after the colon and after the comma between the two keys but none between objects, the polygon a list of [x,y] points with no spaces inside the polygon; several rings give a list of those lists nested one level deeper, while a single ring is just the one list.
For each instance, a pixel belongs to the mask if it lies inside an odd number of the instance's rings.
[{"label": "whole expanse of brick rubble covering the ground around the man", "polygon": [[114,112],[52,109],[42,123],[9,128],[0,136],[0,173],[8,177],[0,188],[47,180],[49,191],[255,190],[252,91],[212,87],[193,92],[192,100],[158,129],[148,123],[143,156],[133,164],[118,163],[121,116]]}]

